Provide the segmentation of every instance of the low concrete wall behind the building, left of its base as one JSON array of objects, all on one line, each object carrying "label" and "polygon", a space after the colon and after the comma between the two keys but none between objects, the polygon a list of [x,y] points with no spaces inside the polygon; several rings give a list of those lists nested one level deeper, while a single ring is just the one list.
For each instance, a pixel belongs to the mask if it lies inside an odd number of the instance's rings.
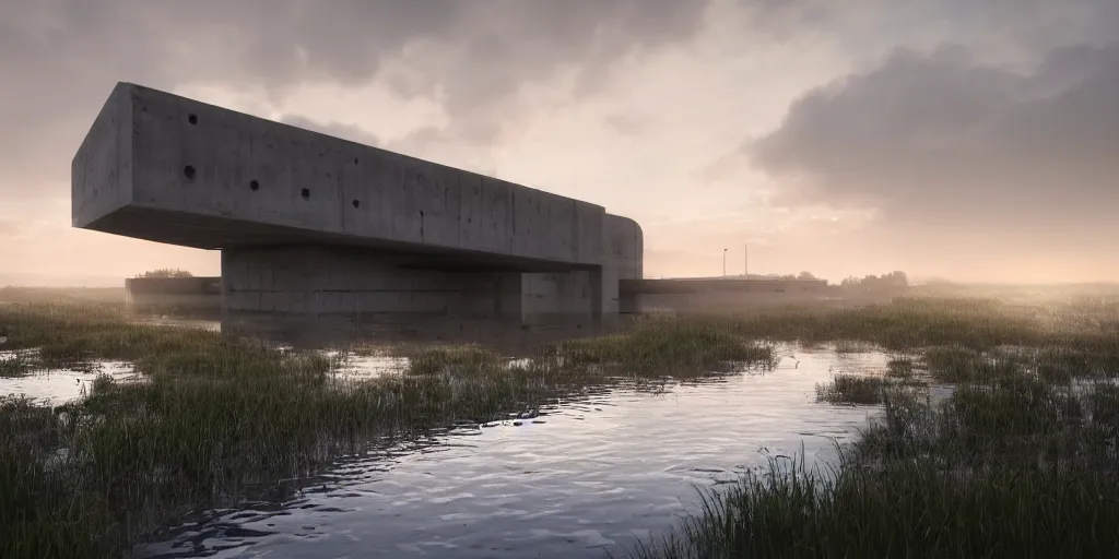
[{"label": "low concrete wall behind the building, left of its base", "polygon": [[124,280],[124,304],[137,313],[218,316],[220,277],[130,277]]}]

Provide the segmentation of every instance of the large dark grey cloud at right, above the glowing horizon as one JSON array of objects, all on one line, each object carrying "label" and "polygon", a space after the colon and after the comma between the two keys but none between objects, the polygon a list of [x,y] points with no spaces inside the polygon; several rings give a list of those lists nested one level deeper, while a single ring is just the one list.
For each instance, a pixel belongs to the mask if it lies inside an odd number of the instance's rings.
[{"label": "large dark grey cloud at right, above the glowing horizon", "polygon": [[1052,51],[1028,73],[962,48],[899,50],[796,101],[747,146],[802,200],[885,222],[1066,241],[1119,207],[1119,44]]}]

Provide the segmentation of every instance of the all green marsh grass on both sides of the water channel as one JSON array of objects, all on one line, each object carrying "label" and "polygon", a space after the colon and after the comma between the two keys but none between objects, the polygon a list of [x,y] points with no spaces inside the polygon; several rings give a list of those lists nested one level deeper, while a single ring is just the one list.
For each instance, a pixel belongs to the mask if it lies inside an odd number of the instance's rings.
[{"label": "all green marsh grass on both sides of the water channel", "polygon": [[[771,367],[780,341],[890,351],[883,376],[837,375],[818,387],[826,402],[881,404],[884,413],[834,471],[777,461],[767,475],[706,494],[705,514],[637,555],[1119,549],[1104,530],[1119,520],[1115,324],[1107,305],[1025,313],[994,301],[897,300],[651,319],[518,360],[479,345],[388,348],[408,358],[405,370],[351,379],[338,375],[341,361],[367,349],[292,351],[135,324],[114,301],[31,297],[0,305],[0,351],[18,352],[0,361],[0,375],[111,359],[133,363],[142,380],[101,378],[87,397],[56,407],[0,400],[0,433],[10,434],[0,442],[0,502],[10,503],[0,510],[0,556],[119,557],[184,515],[283,499],[338,456],[378,442],[530,417],[592,386]],[[957,388],[933,405],[929,383]],[[1051,533],[1059,537],[1038,539]]]}]

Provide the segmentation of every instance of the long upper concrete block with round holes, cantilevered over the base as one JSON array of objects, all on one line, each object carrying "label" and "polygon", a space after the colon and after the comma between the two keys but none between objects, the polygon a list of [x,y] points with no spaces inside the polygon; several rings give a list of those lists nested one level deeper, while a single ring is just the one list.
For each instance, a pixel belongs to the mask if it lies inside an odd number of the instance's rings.
[{"label": "long upper concrete block with round holes, cantilevered over the base", "polygon": [[[432,265],[581,269],[600,206],[117,84],[73,162],[75,227],[197,248],[337,245]],[[422,265],[422,264],[421,264]]]}]

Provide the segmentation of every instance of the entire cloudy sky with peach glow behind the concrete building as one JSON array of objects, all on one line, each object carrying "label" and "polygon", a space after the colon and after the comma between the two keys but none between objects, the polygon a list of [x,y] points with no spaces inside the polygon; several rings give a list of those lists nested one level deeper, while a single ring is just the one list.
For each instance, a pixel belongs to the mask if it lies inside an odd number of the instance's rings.
[{"label": "entire cloudy sky with peach glow behind the concrete building", "polygon": [[603,205],[646,275],[1119,280],[1115,0],[0,0],[0,275],[219,271],[69,227],[116,82]]}]

